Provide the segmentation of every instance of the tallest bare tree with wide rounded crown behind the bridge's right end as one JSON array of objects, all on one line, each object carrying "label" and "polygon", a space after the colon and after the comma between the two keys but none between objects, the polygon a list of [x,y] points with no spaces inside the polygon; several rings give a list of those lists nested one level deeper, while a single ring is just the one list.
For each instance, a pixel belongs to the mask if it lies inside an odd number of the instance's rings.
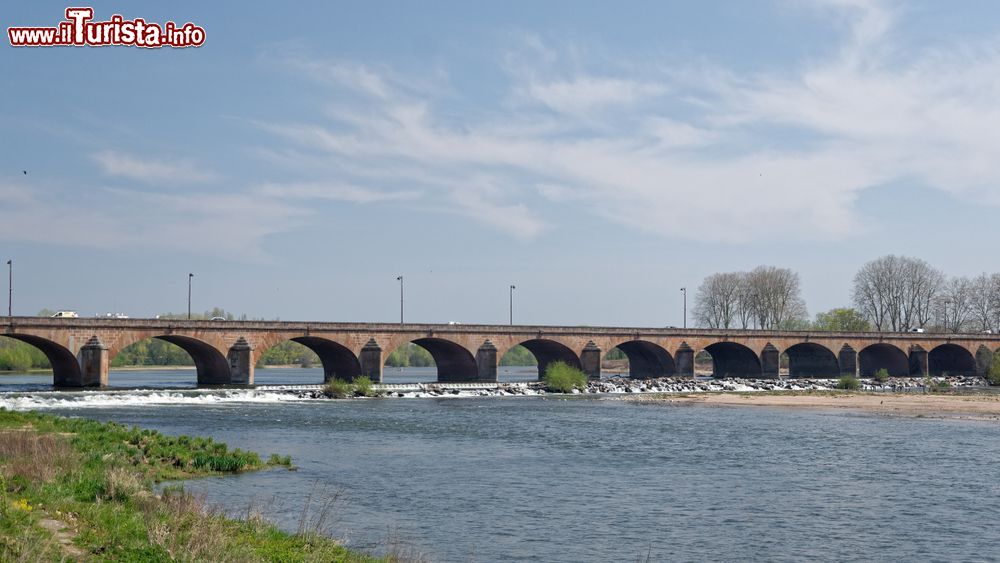
[{"label": "tallest bare tree with wide rounded crown behind the bridge's right end", "polygon": [[923,260],[883,256],[854,276],[854,305],[879,331],[923,327],[944,283],[944,274]]}]

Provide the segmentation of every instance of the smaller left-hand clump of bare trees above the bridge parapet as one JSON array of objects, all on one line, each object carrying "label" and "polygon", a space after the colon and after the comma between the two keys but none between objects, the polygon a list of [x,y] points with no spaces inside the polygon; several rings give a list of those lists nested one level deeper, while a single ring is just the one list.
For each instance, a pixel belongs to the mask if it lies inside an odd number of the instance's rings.
[{"label": "smaller left-hand clump of bare trees above the bridge parapet", "polygon": [[758,266],[705,278],[695,295],[694,317],[708,328],[799,328],[806,321],[799,275]]}]

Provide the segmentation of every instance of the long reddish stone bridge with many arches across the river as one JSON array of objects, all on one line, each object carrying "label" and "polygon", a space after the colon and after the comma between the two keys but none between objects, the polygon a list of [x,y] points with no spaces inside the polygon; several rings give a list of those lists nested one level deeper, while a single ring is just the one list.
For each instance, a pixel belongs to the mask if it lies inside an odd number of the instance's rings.
[{"label": "long reddish stone bridge with many arches across the river", "polygon": [[111,360],[126,346],[158,338],[194,360],[202,385],[252,384],[256,358],[287,340],[316,352],[324,378],[367,375],[382,380],[389,352],[413,342],[430,352],[438,380],[496,381],[499,359],[520,344],[538,360],[555,361],[596,379],[603,354],[618,348],[630,376],[693,376],[699,351],[712,356],[716,377],[776,378],[787,354],[791,377],[981,375],[1000,348],[1000,335],[765,330],[440,325],[161,319],[8,317],[3,336],[39,348],[59,387],[102,386]]}]

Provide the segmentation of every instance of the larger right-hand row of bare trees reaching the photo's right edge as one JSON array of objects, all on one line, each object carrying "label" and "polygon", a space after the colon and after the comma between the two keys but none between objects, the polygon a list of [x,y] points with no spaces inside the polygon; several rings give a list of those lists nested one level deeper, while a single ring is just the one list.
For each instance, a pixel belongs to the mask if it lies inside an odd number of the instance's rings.
[{"label": "larger right-hand row of bare trees reaching the photo's right edge", "polygon": [[997,332],[1000,274],[948,277],[927,262],[888,255],[854,276],[854,305],[878,331]]}]

